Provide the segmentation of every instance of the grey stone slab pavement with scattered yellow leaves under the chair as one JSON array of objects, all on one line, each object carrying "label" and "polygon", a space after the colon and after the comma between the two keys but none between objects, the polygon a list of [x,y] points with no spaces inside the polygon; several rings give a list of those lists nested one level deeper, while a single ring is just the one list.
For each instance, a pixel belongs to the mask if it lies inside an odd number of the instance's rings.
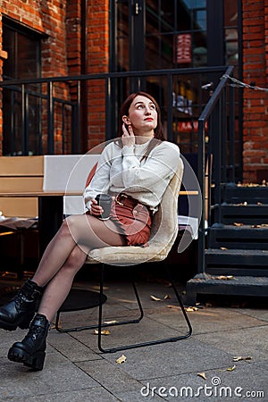
[{"label": "grey stone slab pavement with scattered yellow leaves under the chair", "polygon": [[[96,289],[90,283],[76,285]],[[167,284],[143,282],[138,289],[146,317],[138,324],[111,328],[111,334],[103,336],[105,347],[186,331]],[[105,294],[107,320],[137,315],[129,284],[108,282]],[[164,299],[166,295],[171,298]],[[64,313],[62,324],[94,321],[96,312]],[[0,330],[0,400],[268,401],[268,307],[204,306],[188,316],[193,326],[189,339],[112,354],[98,351],[93,330],[59,333],[52,328],[42,372],[6,358],[25,331]],[[118,364],[122,354],[126,361]],[[241,359],[236,362],[234,357]]]}]

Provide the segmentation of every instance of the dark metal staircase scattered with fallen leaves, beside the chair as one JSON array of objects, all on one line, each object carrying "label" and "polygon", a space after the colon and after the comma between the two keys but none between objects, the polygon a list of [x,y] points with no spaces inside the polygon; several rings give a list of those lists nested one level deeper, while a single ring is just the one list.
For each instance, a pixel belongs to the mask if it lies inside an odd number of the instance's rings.
[{"label": "dark metal staircase scattered with fallen leaves, beside the chair", "polygon": [[[220,103],[220,91],[216,96],[215,107]],[[199,119],[201,138],[205,121],[212,128],[217,121],[213,111],[208,116],[205,113],[208,108]],[[268,296],[268,186],[239,186],[229,180],[234,166],[227,157],[230,148],[227,151],[222,146],[225,139],[223,132],[217,144],[199,145],[200,187],[209,194],[203,194],[198,272],[187,283],[187,305],[195,304],[198,295]],[[214,159],[207,175],[204,153]]]}]

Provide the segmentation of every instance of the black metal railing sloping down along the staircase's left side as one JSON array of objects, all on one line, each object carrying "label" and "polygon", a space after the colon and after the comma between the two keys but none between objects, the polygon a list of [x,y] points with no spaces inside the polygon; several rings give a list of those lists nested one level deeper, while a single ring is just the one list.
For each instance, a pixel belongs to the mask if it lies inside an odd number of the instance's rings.
[{"label": "black metal railing sloping down along the staircase's left side", "polygon": [[[234,184],[235,180],[234,88],[228,85],[232,71],[230,66],[198,119],[198,181],[203,206],[198,235],[199,277],[205,277],[205,234],[212,225],[222,226],[222,190],[226,182]],[[213,209],[217,209],[217,222],[212,219]]]}]

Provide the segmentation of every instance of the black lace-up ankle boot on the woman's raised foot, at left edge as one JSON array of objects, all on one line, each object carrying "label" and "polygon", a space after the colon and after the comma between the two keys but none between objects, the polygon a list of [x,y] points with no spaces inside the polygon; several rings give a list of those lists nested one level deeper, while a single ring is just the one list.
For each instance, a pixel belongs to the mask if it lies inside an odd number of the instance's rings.
[{"label": "black lace-up ankle boot on the woman's raised foot, at left edge", "polygon": [[0,308],[0,328],[7,331],[29,328],[41,294],[42,288],[34,281],[26,281],[11,301]]}]

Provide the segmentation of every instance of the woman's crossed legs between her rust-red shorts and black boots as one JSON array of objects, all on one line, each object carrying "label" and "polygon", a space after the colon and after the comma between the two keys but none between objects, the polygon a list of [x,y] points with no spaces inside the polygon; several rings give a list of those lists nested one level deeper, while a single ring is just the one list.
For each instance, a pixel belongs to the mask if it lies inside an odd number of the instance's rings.
[{"label": "woman's crossed legs between her rust-red shorts and black boots", "polygon": [[33,281],[39,285],[48,281],[38,313],[46,315],[48,321],[53,320],[68,296],[75,274],[85,263],[89,250],[124,244],[113,222],[107,224],[90,215],[75,215],[67,219],[47,247],[33,277]]}]

